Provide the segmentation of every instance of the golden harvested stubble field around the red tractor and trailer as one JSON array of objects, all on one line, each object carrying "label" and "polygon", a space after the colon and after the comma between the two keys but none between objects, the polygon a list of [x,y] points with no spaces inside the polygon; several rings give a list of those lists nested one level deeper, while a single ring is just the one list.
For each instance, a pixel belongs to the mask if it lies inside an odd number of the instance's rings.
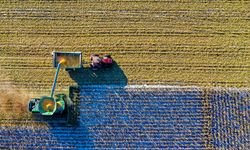
[{"label": "golden harvested stubble field around the red tractor and trailer", "polygon": [[[112,54],[128,84],[248,87],[249,7],[236,0],[1,2],[0,84],[48,93],[51,52],[81,51],[87,62],[91,53]],[[59,91],[74,83],[65,71],[58,82]]]}]

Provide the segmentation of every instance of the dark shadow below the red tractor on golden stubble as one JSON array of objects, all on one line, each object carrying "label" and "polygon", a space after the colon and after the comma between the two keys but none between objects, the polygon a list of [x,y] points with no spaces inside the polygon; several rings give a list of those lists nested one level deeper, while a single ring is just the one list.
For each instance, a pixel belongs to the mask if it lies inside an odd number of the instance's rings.
[{"label": "dark shadow below the red tractor on golden stubble", "polygon": [[79,85],[121,85],[125,86],[128,79],[120,66],[114,61],[110,68],[92,70],[82,67],[75,71],[68,71],[69,76]]}]

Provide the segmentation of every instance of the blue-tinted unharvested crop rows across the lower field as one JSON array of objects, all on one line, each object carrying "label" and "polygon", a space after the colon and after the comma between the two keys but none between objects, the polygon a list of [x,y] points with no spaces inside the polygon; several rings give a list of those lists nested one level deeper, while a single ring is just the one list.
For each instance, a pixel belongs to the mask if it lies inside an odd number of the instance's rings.
[{"label": "blue-tinted unharvested crop rows across the lower field", "polygon": [[[249,90],[81,86],[80,124],[0,120],[2,149],[247,149]],[[65,121],[64,121],[65,122]]]}]

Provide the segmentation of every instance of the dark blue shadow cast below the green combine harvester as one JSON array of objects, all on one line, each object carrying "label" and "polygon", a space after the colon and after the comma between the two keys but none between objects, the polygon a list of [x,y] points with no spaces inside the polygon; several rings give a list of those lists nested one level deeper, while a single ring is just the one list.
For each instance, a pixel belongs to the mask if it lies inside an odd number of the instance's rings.
[{"label": "dark blue shadow cast below the green combine harvester", "polygon": [[71,147],[79,149],[83,147],[94,147],[93,138],[88,128],[79,123],[77,126],[67,126],[66,120],[61,115],[41,116],[35,114],[35,119],[41,123],[47,124],[47,130],[44,131],[43,141],[51,147],[64,148]]}]

